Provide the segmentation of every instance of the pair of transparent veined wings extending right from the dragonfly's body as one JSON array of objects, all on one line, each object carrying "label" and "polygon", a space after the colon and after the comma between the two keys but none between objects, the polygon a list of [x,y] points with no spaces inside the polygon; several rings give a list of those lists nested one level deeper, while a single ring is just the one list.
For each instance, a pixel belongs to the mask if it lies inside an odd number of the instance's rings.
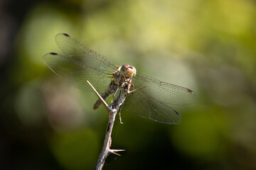
[{"label": "pair of transparent veined wings extending right from the dragonfly's body", "polygon": [[144,74],[137,74],[132,81],[134,87],[131,89],[147,87],[127,96],[124,109],[143,118],[176,125],[181,123],[181,117],[170,105],[196,102],[193,91],[181,86],[167,84]]}]

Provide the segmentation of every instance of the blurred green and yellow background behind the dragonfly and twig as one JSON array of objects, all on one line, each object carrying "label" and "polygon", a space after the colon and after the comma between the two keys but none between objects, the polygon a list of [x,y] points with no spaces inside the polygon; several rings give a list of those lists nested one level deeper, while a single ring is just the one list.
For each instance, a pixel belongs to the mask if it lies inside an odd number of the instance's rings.
[{"label": "blurred green and yellow background behind the dragonfly and twig", "polygon": [[104,169],[256,169],[256,1],[1,0],[0,169],[94,169],[97,100],[46,67],[69,33],[112,62],[186,86],[181,125],[122,111]]}]

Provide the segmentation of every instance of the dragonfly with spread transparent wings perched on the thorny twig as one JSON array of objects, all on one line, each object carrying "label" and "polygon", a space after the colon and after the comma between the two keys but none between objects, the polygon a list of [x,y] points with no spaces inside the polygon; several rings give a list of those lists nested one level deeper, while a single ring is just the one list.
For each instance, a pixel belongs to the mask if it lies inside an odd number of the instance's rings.
[{"label": "dragonfly with spread transparent wings perched on the thorny twig", "polygon": [[[129,80],[132,80],[131,90],[141,88],[124,101],[122,108],[129,113],[159,123],[178,125],[181,123],[181,115],[172,107],[196,102],[196,94],[191,89],[137,73],[135,67],[129,64],[119,67],[67,33],[55,35],[55,42],[62,54],[49,52],[43,55],[43,62],[78,89],[92,93],[87,84],[90,81],[105,99],[115,94]],[[100,103],[98,100],[94,108],[98,108]]]}]

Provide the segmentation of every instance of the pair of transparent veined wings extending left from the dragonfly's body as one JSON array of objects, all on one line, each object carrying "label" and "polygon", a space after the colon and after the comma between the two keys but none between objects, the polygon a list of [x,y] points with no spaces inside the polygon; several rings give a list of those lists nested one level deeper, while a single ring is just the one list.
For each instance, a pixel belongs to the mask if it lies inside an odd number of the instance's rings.
[{"label": "pair of transparent veined wings extending left from the dragonfly's body", "polygon": [[56,35],[55,41],[63,55],[55,52],[44,55],[43,61],[46,65],[55,74],[83,91],[92,91],[86,80],[90,81],[99,93],[105,91],[110,84],[112,72],[117,70],[117,65],[68,34]]}]

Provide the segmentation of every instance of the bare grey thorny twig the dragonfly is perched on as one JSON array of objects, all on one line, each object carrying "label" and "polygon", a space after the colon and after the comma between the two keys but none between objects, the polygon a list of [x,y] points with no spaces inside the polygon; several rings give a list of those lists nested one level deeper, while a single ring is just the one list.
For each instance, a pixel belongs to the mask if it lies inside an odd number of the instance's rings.
[{"label": "bare grey thorny twig the dragonfly is perched on", "polygon": [[[87,81],[88,84],[90,84],[89,81]],[[111,107],[107,105],[107,103],[105,102],[105,100],[100,96],[100,94],[98,94],[98,92],[96,91],[96,89],[92,86],[92,84],[90,84],[90,86],[92,87],[93,91],[95,91],[95,94],[98,96],[98,98],[100,98],[100,100],[102,101],[103,105],[105,106],[105,108],[107,109],[107,112],[109,113],[109,120],[107,123],[107,131],[105,134],[105,140],[103,143],[103,147],[102,147],[102,151],[100,153],[100,157],[97,161],[97,165],[96,168],[97,170],[102,169],[105,160],[107,158],[107,156],[112,153],[112,154],[117,154],[117,152],[122,152],[125,151],[124,149],[110,149],[111,147],[111,133],[112,133],[112,129],[113,129],[113,125],[114,125],[114,119],[117,115],[117,112],[120,111],[120,109],[122,108],[122,105],[124,104],[124,100],[125,98],[127,98],[127,96],[129,94],[134,93],[135,91],[138,91],[142,88],[139,89],[135,89],[133,91],[129,91],[129,85],[124,87],[124,91],[122,94],[120,94],[117,98],[114,99],[114,101],[112,101],[111,103]],[[120,121],[121,121],[121,117],[120,117]],[[117,154],[118,156],[120,156],[120,154]]]}]

